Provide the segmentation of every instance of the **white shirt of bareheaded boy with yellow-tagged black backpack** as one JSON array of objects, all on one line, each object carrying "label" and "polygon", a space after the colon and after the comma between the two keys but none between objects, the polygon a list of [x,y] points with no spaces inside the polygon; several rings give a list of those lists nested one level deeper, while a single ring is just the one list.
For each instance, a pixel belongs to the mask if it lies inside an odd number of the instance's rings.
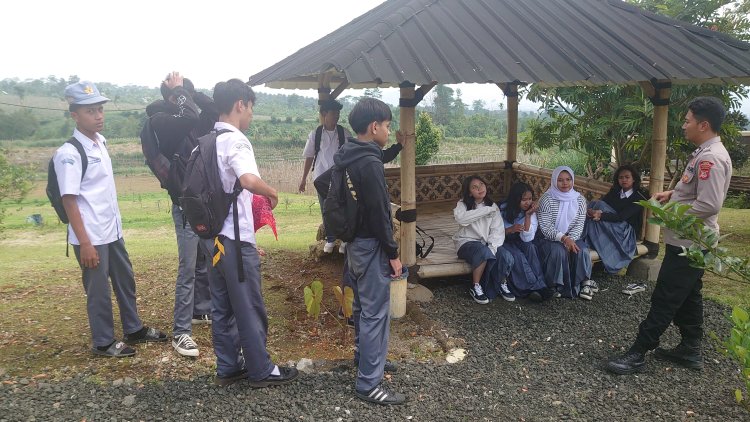
[{"label": "white shirt of bareheaded boy with yellow-tagged black backpack", "polygon": [[[216,122],[216,130],[229,129],[216,138],[216,156],[219,165],[219,177],[224,192],[231,192],[238,177],[243,174],[254,174],[260,177],[255,153],[250,141],[236,127],[229,123]],[[234,217],[232,207],[224,220],[220,235],[234,240]],[[240,240],[255,245],[255,223],[253,222],[253,194],[243,189],[237,197],[237,221],[240,225]]]}]

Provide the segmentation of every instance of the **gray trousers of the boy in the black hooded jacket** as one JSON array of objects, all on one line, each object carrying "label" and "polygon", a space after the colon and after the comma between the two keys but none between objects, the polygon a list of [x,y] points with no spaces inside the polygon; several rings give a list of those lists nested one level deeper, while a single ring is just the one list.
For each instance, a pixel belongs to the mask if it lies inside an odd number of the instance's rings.
[{"label": "gray trousers of the boy in the black hooded jacket", "polygon": [[346,255],[354,289],[354,360],[359,361],[355,388],[370,391],[382,381],[388,355],[393,270],[374,238],[355,238]]}]

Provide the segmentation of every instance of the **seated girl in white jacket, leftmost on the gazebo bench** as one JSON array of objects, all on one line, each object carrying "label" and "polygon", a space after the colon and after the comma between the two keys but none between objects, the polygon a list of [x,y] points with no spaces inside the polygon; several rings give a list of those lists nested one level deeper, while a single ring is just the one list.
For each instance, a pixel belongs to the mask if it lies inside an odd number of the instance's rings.
[{"label": "seated girl in white jacket, leftmost on the gazebo bench", "polygon": [[513,266],[513,256],[502,245],[505,240],[503,217],[487,197],[487,184],[479,176],[469,176],[461,186],[462,199],[453,216],[458,232],[453,236],[457,255],[471,265],[469,294],[475,302],[487,304],[500,294],[507,301],[515,297],[505,279]]}]

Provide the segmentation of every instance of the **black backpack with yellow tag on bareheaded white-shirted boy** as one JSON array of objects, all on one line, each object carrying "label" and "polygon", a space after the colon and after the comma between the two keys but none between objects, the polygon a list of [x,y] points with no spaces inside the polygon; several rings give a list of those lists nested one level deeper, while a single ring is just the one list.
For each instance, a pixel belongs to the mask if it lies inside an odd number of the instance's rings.
[{"label": "black backpack with yellow tag on bareheaded white-shirted boy", "polygon": [[179,203],[190,228],[202,239],[212,239],[219,235],[224,220],[232,207],[234,218],[234,241],[237,245],[237,274],[244,281],[242,255],[240,250],[240,226],[237,212],[237,197],[242,193],[240,179],[234,183],[232,192],[224,192],[219,176],[219,164],[216,156],[216,138],[228,129],[212,130],[198,139],[198,146],[190,154],[182,195]]}]

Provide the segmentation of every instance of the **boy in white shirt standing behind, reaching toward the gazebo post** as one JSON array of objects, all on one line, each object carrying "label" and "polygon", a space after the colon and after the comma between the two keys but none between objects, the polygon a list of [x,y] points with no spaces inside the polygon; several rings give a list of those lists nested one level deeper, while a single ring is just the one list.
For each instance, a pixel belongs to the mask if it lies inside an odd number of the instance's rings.
[{"label": "boy in white shirt standing behind, reaching toward the gazebo post", "polygon": [[[304,192],[307,184],[307,174],[312,168],[313,180],[317,179],[326,170],[333,165],[333,154],[344,145],[346,139],[351,137],[351,133],[339,125],[339,114],[343,106],[336,100],[324,100],[320,104],[320,116],[323,124],[310,132],[307,138],[305,149],[302,152],[305,158],[305,166],[302,170],[302,180],[299,183],[299,191]],[[320,212],[323,212],[323,200],[325,198],[318,195],[320,203]],[[323,246],[323,252],[333,252],[336,237],[330,234],[330,230],[323,222],[323,228],[326,232],[326,243]],[[344,253],[344,243],[339,247],[339,252]]]}]

